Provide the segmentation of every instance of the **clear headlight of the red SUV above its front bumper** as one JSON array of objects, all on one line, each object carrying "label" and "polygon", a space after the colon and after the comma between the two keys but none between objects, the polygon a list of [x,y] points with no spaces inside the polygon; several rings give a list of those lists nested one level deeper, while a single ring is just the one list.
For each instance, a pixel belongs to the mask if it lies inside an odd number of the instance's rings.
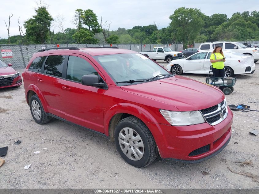
[{"label": "clear headlight of the red SUV above its front bumper", "polygon": [[205,123],[200,111],[173,112],[160,110],[163,117],[173,126],[185,126]]}]

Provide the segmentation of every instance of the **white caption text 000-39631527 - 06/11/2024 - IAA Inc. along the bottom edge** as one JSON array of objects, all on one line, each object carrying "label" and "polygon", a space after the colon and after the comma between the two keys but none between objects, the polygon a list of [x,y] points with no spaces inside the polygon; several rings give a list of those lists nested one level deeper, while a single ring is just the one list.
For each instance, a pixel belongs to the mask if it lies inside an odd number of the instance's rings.
[{"label": "white caption text 000-39631527 - 06/11/2024 - IAA Inc. along the bottom edge", "polygon": [[159,189],[94,189],[94,193],[162,193]]}]

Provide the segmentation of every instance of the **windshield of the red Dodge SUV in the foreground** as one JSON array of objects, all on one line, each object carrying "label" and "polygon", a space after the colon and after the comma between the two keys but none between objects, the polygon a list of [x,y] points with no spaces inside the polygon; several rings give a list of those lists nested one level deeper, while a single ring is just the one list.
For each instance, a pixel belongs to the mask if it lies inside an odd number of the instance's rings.
[{"label": "windshield of the red Dodge SUV in the foreground", "polygon": [[[100,63],[115,83],[130,80],[130,83],[119,83],[118,85],[120,86],[132,85],[132,83],[141,84],[147,79],[163,74],[166,75],[158,76],[157,78],[172,76],[157,63],[139,53],[98,55],[93,58]],[[138,82],[134,82],[134,80]],[[141,80],[142,82],[139,82]]]}]

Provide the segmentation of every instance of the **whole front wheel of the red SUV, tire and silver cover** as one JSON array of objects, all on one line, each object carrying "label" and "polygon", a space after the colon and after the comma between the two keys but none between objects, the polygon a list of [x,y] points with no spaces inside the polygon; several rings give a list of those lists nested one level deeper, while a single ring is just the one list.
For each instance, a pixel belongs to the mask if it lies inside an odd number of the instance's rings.
[{"label": "whole front wheel of the red SUV, tire and silver cover", "polygon": [[151,132],[134,116],[124,118],[117,124],[114,141],[120,156],[135,167],[145,167],[158,156],[158,148]]}]

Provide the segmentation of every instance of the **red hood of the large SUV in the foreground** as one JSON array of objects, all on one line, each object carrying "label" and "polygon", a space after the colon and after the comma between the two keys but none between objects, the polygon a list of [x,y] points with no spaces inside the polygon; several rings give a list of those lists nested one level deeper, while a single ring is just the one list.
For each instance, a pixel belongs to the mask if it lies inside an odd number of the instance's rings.
[{"label": "red hood of the large SUV in the foreground", "polygon": [[[224,100],[224,94],[215,86],[207,85],[182,76],[173,76],[153,82],[121,86],[135,93],[175,106],[180,111],[209,108]],[[168,109],[169,110],[169,109]]]}]

